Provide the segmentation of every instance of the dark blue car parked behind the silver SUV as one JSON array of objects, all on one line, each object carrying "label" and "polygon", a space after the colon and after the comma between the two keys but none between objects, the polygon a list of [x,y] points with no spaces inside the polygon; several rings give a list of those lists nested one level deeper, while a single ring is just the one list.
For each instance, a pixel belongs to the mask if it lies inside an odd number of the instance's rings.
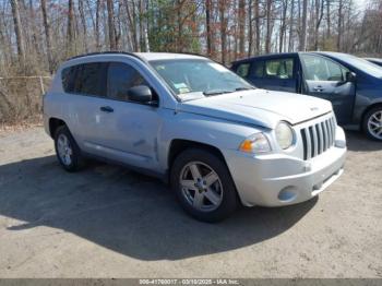
[{"label": "dark blue car parked behind the silver SUV", "polygon": [[382,69],[339,52],[290,52],[232,62],[260,88],[299,93],[332,103],[337,122],[382,141]]}]

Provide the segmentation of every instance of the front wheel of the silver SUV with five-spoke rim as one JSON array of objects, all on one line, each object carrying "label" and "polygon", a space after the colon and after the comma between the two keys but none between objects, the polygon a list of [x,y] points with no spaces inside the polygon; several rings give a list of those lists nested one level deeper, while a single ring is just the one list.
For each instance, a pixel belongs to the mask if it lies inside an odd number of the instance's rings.
[{"label": "front wheel of the silver SUV with five-spoke rim", "polygon": [[205,150],[178,155],[170,181],[183,210],[199,221],[215,223],[237,208],[236,187],[226,164]]}]

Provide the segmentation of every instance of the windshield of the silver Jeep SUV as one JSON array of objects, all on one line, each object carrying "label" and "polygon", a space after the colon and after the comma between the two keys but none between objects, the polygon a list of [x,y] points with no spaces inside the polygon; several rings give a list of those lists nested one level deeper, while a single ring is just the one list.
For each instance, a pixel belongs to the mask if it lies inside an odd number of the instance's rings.
[{"label": "windshield of the silver Jeep SUV", "polygon": [[190,93],[212,96],[253,88],[236,73],[210,60],[177,59],[150,63],[180,98]]}]

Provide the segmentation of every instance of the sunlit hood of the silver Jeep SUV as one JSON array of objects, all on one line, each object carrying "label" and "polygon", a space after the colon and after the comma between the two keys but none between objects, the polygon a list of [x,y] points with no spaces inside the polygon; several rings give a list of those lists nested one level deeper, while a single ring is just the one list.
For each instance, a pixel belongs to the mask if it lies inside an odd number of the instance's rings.
[{"label": "sunlit hood of the silver Jeep SUV", "polygon": [[251,90],[182,102],[177,111],[274,129],[280,120],[297,124],[327,114],[332,104],[307,95]]}]

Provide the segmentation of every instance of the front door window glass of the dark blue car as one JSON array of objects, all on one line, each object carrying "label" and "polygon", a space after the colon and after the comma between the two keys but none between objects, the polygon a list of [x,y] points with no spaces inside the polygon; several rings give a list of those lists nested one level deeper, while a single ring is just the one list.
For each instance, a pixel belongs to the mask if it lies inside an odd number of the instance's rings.
[{"label": "front door window glass of the dark blue car", "polygon": [[312,55],[301,55],[301,62],[305,68],[305,78],[309,81],[344,81],[348,71],[341,64]]}]

